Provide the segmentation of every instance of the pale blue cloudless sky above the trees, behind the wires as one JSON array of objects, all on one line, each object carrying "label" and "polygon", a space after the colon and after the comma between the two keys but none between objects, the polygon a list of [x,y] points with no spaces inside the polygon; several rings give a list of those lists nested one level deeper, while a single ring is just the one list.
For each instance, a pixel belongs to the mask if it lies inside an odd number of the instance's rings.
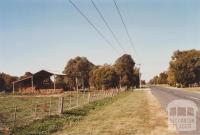
[{"label": "pale blue cloudless sky above the trees, behind the wires", "polygon": [[107,44],[68,0],[0,0],[0,72],[20,76],[46,69],[62,72],[68,60],[85,56],[113,64],[124,53],[141,64],[149,80],[166,71],[176,50],[200,50],[199,0],[94,0],[125,48],[120,49],[90,0],[73,0],[118,51]]}]

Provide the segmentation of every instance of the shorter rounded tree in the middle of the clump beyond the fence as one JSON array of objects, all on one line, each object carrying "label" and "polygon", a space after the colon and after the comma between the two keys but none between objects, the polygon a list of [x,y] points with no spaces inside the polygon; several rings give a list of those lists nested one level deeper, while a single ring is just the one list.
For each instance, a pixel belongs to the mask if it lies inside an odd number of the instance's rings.
[{"label": "shorter rounded tree in the middle of the clump beyond the fence", "polygon": [[90,73],[90,85],[96,89],[109,89],[117,87],[119,77],[110,65],[94,68]]}]

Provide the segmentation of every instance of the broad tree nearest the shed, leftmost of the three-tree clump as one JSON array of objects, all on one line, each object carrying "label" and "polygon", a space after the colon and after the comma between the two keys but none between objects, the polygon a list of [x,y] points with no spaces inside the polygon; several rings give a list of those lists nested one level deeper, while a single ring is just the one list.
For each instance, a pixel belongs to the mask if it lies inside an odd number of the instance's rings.
[{"label": "broad tree nearest the shed, leftmost of the three-tree clump", "polygon": [[86,57],[76,57],[69,60],[63,73],[67,75],[66,83],[71,89],[76,89],[76,80],[78,87],[89,87],[89,72],[94,67]]}]

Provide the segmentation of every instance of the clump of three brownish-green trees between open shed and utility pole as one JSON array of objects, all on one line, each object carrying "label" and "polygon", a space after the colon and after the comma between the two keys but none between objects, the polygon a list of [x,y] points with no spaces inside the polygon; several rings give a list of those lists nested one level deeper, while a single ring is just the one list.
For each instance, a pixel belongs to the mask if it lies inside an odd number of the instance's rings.
[{"label": "clump of three brownish-green trees between open shed and utility pole", "polygon": [[76,79],[78,87],[90,86],[96,89],[109,89],[115,87],[139,86],[139,69],[135,68],[135,62],[131,55],[124,54],[118,58],[114,65],[95,66],[85,57],[70,59],[63,73],[66,78],[57,78],[57,83],[69,89],[76,89]]}]

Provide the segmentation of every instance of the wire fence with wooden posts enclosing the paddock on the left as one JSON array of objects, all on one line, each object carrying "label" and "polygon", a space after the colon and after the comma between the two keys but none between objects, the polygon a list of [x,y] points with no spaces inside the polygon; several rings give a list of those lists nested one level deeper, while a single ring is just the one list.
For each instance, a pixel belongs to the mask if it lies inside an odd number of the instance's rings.
[{"label": "wire fence with wooden posts enclosing the paddock on the left", "polygon": [[0,97],[0,131],[30,124],[34,120],[60,115],[90,102],[112,97],[118,89],[92,92],[66,92],[59,96],[8,96]]}]

